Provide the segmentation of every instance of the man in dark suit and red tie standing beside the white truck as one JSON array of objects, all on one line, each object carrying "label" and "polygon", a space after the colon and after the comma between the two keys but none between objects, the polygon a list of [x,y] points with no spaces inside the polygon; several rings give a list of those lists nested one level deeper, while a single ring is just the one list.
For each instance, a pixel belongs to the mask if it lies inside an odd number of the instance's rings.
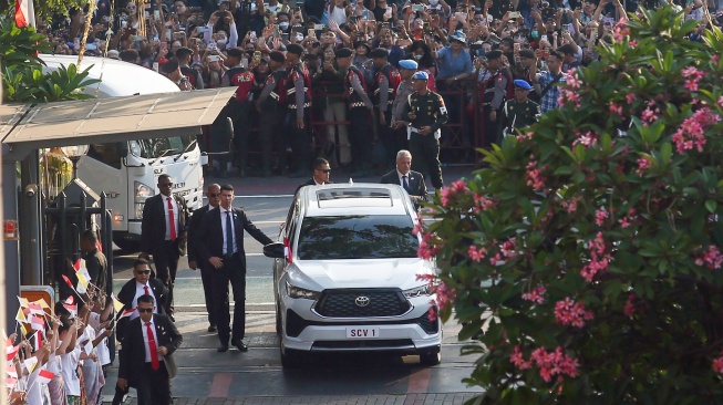
[{"label": "man in dark suit and red tie standing beside the white truck", "polygon": [[178,258],[186,252],[186,201],[173,193],[171,176],[158,176],[161,194],[146,199],[141,222],[141,255],[148,259],[153,255],[158,279],[168,288],[168,300],[164,303],[166,314],[173,321],[173,284],[176,281]]}]

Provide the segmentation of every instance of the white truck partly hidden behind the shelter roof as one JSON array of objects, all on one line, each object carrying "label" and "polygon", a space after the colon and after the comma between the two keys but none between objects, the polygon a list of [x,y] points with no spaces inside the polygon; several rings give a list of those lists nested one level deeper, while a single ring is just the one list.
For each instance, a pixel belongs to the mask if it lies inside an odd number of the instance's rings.
[{"label": "white truck partly hidden behind the shelter roof", "polygon": [[[44,71],[54,71],[78,61],[76,56],[41,55]],[[101,58],[83,58],[81,69],[93,65],[89,79],[101,79],[85,89],[95,97],[178,92],[163,75],[132,63]],[[78,165],[78,177],[96,193],[105,191],[113,212],[113,242],[136,251],[141,241],[141,220],[146,198],[158,194],[157,179],[171,176],[174,193],[183,196],[190,210],[203,206],[204,175],[195,136],[172,136],[109,144],[92,144]]]}]

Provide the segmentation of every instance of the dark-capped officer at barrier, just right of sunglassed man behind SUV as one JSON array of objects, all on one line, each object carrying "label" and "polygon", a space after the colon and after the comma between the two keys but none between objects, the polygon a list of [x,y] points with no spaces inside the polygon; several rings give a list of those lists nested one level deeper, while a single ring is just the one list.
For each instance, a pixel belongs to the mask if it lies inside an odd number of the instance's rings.
[{"label": "dark-capped officer at barrier, just right of sunglassed man behind SUV", "polygon": [[373,107],[366,94],[363,73],[352,64],[353,52],[348,48],[337,50],[337,65],[344,72],[344,93],[349,117],[349,143],[354,176],[368,176],[372,158],[372,137],[369,116]]}]

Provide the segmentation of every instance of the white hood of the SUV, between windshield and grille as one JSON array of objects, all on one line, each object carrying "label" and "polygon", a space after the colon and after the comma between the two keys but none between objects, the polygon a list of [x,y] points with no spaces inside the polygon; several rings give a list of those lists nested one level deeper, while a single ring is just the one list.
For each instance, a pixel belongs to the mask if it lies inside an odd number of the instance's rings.
[{"label": "white hood of the SUV, between windshield and grille", "polygon": [[[416,274],[433,273],[427,260],[362,259],[362,260],[302,260],[289,269],[295,283],[321,291],[349,288],[400,288],[411,289],[423,284]],[[301,285],[299,285],[301,287]]]}]

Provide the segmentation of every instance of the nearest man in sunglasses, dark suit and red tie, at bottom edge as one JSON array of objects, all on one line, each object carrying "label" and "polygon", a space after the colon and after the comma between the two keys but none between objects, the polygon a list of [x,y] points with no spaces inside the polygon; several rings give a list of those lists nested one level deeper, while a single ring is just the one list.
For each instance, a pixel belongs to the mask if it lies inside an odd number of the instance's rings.
[{"label": "nearest man in sunglasses, dark suit and red tie, at bottom edge", "polygon": [[140,405],[169,405],[167,366],[175,363],[167,357],[180,346],[183,336],[168,316],[154,314],[154,303],[151,295],[138,298],[141,315],[128,322],[123,338],[116,385],[121,390],[136,388]]}]

